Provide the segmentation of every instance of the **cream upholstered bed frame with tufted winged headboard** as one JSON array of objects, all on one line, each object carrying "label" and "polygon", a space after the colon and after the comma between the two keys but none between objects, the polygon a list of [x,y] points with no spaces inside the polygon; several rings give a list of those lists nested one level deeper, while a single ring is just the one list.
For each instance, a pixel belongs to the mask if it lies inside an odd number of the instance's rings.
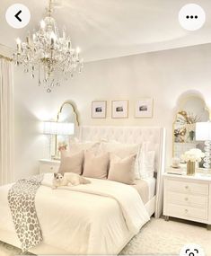
[{"label": "cream upholstered bed frame with tufted winged headboard", "polygon": [[[156,173],[156,195],[153,199],[145,204],[145,208],[150,216],[154,214],[156,218],[161,216],[163,212],[163,178],[164,172],[164,147],[165,147],[165,130],[164,128],[155,127],[94,127],[83,126],[79,129],[79,138],[82,141],[97,141],[100,139],[115,140],[121,143],[142,143],[151,142],[151,148],[155,150],[155,173]],[[132,236],[128,237],[127,243]],[[16,235],[0,229],[0,241],[18,246],[20,244]],[[124,246],[127,244],[125,243]],[[124,248],[122,247],[122,249]],[[67,255],[57,247],[49,246],[42,243],[35,248],[29,250],[35,254],[59,254]]]}]

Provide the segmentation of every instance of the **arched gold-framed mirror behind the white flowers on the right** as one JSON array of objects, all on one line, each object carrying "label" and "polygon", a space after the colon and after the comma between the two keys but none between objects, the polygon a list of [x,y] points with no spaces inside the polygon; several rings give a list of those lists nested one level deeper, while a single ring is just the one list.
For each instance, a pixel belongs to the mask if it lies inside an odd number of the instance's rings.
[{"label": "arched gold-framed mirror behind the white flowers on the right", "polygon": [[191,148],[204,151],[204,143],[196,141],[196,123],[209,120],[209,111],[201,95],[189,94],[180,99],[173,123],[173,157],[180,158]]}]

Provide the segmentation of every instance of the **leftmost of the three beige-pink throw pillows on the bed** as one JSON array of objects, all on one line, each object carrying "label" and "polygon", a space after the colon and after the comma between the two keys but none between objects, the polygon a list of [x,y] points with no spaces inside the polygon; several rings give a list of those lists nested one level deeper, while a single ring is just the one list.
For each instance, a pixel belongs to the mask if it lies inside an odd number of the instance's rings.
[{"label": "leftmost of the three beige-pink throw pillows on the bed", "polygon": [[61,163],[58,172],[75,172],[82,174],[84,163],[84,151],[76,154],[67,154],[65,151],[61,152]]}]

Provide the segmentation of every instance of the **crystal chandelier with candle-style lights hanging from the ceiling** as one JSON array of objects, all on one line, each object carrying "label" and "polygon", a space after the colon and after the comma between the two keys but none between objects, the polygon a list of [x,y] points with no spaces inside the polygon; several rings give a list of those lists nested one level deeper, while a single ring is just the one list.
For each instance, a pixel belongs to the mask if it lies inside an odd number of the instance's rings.
[{"label": "crystal chandelier with candle-style lights hanging from the ceiling", "polygon": [[22,65],[24,72],[31,73],[32,78],[38,74],[39,86],[44,85],[48,93],[60,86],[61,80],[73,77],[75,71],[81,73],[84,64],[80,49],[73,49],[66,29],[59,33],[52,12],[53,3],[49,0],[48,15],[40,22],[40,30],[28,33],[25,42],[18,38],[13,54],[15,64]]}]

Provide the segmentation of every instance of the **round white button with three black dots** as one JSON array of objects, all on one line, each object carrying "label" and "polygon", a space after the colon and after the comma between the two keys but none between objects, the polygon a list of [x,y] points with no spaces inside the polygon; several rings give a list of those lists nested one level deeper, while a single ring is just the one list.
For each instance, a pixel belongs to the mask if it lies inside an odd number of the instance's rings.
[{"label": "round white button with three black dots", "polygon": [[199,30],[206,21],[206,13],[198,4],[186,4],[180,9],[180,26],[187,31]]}]

